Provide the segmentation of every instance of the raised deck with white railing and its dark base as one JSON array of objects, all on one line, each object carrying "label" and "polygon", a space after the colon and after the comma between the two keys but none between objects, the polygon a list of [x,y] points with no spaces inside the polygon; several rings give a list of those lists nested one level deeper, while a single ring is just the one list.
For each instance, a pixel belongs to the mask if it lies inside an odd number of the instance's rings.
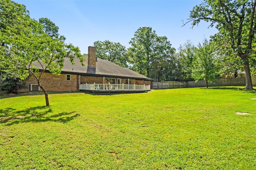
[{"label": "raised deck with white railing and its dark base", "polygon": [[150,85],[137,84],[80,84],[80,90],[86,92],[108,93],[142,93],[150,91]]}]

